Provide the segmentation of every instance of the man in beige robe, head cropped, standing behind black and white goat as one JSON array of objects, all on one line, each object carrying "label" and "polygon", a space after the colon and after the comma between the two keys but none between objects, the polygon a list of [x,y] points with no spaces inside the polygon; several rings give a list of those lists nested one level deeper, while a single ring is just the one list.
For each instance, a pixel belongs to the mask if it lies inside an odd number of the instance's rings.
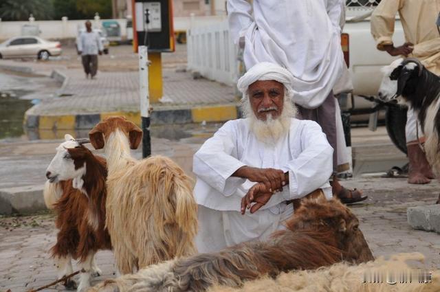
[{"label": "man in beige robe, head cropped, standing behind black and white goat", "polygon": [[[395,16],[399,12],[406,43],[395,47],[393,33]],[[377,49],[391,56],[417,58],[432,73],[440,74],[440,0],[382,0],[371,16],[371,34]],[[408,109],[406,148],[408,149],[408,183],[429,183],[434,178],[425,153],[417,138],[417,114]],[[419,133],[422,133],[419,126]]]}]

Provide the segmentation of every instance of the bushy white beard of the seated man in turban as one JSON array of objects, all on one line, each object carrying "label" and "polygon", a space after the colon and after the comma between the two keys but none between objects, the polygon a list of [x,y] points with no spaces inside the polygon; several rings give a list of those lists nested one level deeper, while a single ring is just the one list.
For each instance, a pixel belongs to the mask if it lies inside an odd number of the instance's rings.
[{"label": "bushy white beard of the seated man in turban", "polygon": [[289,98],[285,98],[284,100],[281,115],[274,118],[272,114],[268,114],[265,121],[259,120],[258,117],[256,117],[247,98],[243,100],[241,108],[244,117],[249,121],[250,131],[254,133],[256,139],[268,145],[276,144],[282,137],[287,135],[290,128],[290,121],[292,117],[296,115],[296,107]]}]

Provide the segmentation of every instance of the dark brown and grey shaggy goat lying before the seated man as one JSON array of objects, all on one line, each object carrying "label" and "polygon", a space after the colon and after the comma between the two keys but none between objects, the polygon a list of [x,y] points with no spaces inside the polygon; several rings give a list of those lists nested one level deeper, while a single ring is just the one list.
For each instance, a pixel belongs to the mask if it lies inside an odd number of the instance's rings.
[{"label": "dark brown and grey shaggy goat lying before the seated man", "polygon": [[206,291],[283,271],[318,269],[336,262],[373,260],[359,221],[340,201],[307,200],[270,240],[251,240],[212,254],[164,262],[134,275],[106,280],[90,291]]}]

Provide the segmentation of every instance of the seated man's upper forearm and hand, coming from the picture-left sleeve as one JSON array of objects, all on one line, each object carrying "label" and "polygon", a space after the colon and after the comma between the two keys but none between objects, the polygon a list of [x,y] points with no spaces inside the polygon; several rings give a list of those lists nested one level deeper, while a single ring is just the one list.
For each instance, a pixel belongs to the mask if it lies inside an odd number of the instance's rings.
[{"label": "seated man's upper forearm and hand, coming from the picture-left sleeve", "polygon": [[264,183],[268,192],[276,192],[287,184],[283,170],[274,168],[253,168],[242,166],[232,174],[234,177],[249,179],[255,183]]}]

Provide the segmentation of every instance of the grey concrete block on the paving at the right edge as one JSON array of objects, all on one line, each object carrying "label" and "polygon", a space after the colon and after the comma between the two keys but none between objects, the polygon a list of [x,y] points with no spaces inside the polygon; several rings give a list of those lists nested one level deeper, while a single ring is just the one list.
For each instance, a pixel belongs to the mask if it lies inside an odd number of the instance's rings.
[{"label": "grey concrete block on the paving at the right edge", "polygon": [[406,216],[412,228],[440,233],[440,205],[409,207]]}]

